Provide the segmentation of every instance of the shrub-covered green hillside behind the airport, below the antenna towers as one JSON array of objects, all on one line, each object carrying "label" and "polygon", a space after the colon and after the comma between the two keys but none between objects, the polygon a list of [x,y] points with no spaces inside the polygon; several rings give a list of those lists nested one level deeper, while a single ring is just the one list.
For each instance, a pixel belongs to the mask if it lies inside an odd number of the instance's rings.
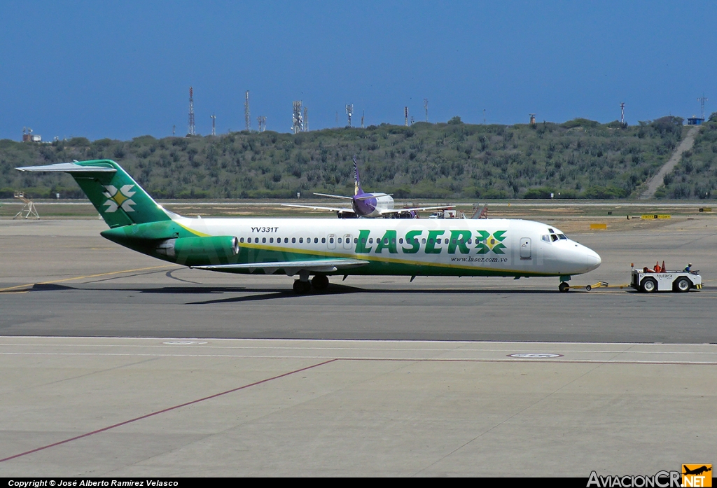
[{"label": "shrub-covered green hillside behind the airport, below the antenna towers", "polygon": [[[694,198],[717,185],[713,126],[661,196]],[[535,125],[381,124],[308,133],[237,132],[50,144],[0,140],[0,197],[82,198],[67,175],[20,173],[16,166],[109,158],[156,198],[309,198],[351,194],[356,155],[366,191],[394,198],[635,198],[667,161],[686,128],[664,117],[623,127],[575,119]],[[680,173],[678,173],[680,171]],[[706,182],[695,174],[709,174]],[[702,186],[700,186],[702,185]],[[707,188],[709,186],[709,188]],[[681,188],[681,189],[680,189]]]}]

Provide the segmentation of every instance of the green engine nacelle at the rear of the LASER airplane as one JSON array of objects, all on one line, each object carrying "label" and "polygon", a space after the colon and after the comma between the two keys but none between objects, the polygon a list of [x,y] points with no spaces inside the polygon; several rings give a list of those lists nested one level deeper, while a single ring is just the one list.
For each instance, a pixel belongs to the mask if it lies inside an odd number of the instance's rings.
[{"label": "green engine nacelle at the rear of the LASER airplane", "polygon": [[187,266],[226,264],[239,254],[239,239],[234,236],[167,239],[161,241],[156,252]]}]

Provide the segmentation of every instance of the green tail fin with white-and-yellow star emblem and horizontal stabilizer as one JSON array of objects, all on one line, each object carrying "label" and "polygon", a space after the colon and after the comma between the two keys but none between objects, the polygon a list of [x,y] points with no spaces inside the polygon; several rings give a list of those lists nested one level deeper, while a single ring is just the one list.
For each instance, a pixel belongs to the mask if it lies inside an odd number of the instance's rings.
[{"label": "green tail fin with white-and-yellow star emblem and horizontal stabilizer", "polygon": [[16,169],[38,173],[69,173],[110,228],[168,221],[175,216],[157,204],[120,165],[109,159]]}]

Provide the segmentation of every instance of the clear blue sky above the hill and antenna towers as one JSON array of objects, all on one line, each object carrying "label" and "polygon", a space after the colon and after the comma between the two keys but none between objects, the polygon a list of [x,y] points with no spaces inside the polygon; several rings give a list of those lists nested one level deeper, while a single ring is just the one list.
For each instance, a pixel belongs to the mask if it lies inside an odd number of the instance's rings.
[{"label": "clear blue sky above the hill and antenna towers", "polygon": [[0,139],[157,138],[403,123],[630,124],[717,110],[717,3],[707,1],[6,2]]}]

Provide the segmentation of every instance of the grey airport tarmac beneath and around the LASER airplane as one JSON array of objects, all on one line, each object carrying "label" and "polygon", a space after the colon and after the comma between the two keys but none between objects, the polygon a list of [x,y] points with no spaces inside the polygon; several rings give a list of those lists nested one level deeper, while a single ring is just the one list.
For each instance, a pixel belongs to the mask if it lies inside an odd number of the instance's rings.
[{"label": "grey airport tarmac beneath and around the LASER airplane", "polygon": [[[0,476],[654,474],[717,452],[710,218],[571,236],[688,294],[166,265],[101,221],[0,220]],[[538,357],[511,357],[533,353]]]}]

